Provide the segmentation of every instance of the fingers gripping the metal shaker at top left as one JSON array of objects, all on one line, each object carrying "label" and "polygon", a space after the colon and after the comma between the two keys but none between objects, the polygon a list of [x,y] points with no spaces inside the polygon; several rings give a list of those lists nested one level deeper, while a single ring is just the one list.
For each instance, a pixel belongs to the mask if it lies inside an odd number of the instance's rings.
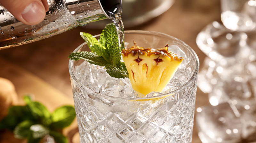
[{"label": "fingers gripping the metal shaker at top left", "polygon": [[49,11],[47,0],[0,0],[16,19],[27,25],[35,25],[45,18]]}]

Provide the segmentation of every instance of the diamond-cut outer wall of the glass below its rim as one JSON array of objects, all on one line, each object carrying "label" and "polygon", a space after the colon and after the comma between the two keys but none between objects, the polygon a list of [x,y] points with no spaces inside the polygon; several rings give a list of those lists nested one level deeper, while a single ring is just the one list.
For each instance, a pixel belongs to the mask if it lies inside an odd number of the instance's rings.
[{"label": "diamond-cut outer wall of the glass below its rim", "polygon": [[84,93],[75,93],[74,103],[81,143],[191,143],[195,91],[190,85],[166,102],[115,101],[111,107],[79,90]]}]

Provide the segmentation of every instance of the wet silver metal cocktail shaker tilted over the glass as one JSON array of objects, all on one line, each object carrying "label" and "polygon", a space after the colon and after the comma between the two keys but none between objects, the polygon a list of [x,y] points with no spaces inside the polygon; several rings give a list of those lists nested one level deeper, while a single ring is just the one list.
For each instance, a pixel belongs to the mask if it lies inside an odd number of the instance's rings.
[{"label": "wet silver metal cocktail shaker tilted over the glass", "polygon": [[44,21],[26,25],[0,5],[0,49],[15,47],[63,33],[77,26],[121,13],[121,0],[48,0]]}]

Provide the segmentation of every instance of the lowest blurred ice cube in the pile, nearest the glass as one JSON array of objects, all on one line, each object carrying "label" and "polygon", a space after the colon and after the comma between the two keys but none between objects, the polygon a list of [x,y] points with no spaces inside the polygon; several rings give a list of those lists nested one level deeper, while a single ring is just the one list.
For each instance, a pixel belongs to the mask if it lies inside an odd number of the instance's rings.
[{"label": "lowest blurred ice cube in the pile, nearest the glass", "polygon": [[242,123],[228,103],[197,108],[198,136],[203,143],[241,140]]}]

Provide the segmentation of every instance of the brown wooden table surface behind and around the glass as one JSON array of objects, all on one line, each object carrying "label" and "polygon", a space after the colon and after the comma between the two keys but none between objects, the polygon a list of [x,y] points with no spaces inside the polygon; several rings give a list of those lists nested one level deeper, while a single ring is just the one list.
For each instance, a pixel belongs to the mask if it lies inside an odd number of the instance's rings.
[{"label": "brown wooden table surface behind and around the glass", "polygon": [[[159,17],[125,30],[148,30],[172,35],[192,47],[202,65],[205,54],[197,47],[196,36],[214,20],[220,21],[219,0],[176,0]],[[73,104],[68,55],[84,42],[79,35],[80,31],[92,35],[101,33],[98,29],[77,27],[48,39],[0,50],[0,77],[14,83],[19,97],[32,93],[37,101],[43,102],[51,111],[61,105]],[[209,104],[207,95],[199,88],[196,96],[196,108]],[[74,122],[64,133],[68,135],[70,130],[76,130],[76,124]],[[77,134],[74,138],[74,143],[78,143]],[[201,143],[196,123],[192,143]]]}]

